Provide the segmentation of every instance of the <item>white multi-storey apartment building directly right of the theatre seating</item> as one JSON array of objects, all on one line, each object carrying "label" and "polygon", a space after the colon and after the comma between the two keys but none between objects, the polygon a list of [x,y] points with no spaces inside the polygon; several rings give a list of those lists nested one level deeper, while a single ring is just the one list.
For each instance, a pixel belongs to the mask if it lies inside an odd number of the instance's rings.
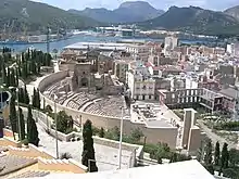
[{"label": "white multi-storey apartment building directly right of the theatre seating", "polygon": [[141,61],[137,61],[136,66],[130,67],[127,73],[127,85],[133,99],[154,100],[155,80],[151,75]]}]

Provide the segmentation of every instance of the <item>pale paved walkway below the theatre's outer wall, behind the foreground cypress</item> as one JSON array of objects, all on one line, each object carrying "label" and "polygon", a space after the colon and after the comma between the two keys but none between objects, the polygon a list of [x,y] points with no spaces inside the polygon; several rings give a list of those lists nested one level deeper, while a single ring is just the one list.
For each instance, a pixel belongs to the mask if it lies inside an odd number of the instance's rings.
[{"label": "pale paved walkway below the theatre's outer wall, behind the foreground cypress", "polygon": [[[39,148],[47,150],[50,154],[55,156],[55,139],[49,136],[45,129],[37,124],[40,143]],[[115,148],[110,148],[100,144],[93,144],[96,151],[97,165],[100,171],[103,170],[115,170],[117,169],[118,164],[118,150]],[[81,163],[81,153],[83,153],[83,142],[62,142],[59,141],[59,153],[60,156],[62,153],[70,153],[72,157]],[[122,157],[122,168],[128,168],[130,152],[123,150]]]}]

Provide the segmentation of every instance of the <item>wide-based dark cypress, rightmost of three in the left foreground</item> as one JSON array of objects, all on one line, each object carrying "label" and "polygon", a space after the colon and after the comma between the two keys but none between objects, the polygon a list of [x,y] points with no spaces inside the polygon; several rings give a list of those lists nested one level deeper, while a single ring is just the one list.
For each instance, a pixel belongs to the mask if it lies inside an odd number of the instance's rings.
[{"label": "wide-based dark cypress, rightmost of three in the left foreground", "polygon": [[28,115],[27,115],[27,139],[28,142],[38,146],[39,138],[36,122],[33,118],[32,107],[28,106]]}]

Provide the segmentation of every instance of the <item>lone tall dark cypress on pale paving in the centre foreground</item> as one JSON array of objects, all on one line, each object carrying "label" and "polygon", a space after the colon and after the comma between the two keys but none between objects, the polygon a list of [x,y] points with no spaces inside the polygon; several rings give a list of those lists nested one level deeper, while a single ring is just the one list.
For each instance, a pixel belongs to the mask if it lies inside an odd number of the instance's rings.
[{"label": "lone tall dark cypress on pale paving in the centre foreground", "polygon": [[89,119],[84,124],[83,143],[83,165],[87,166],[90,172],[98,171],[93,149],[92,124]]}]

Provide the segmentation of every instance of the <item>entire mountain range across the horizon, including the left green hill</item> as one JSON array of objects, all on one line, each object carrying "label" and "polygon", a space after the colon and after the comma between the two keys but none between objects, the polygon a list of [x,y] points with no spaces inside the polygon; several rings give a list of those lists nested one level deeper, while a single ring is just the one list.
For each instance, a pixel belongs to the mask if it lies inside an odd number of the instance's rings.
[{"label": "entire mountain range across the horizon, including the left green hill", "polygon": [[238,35],[239,5],[224,12],[198,7],[172,7],[166,12],[143,1],[128,1],[115,10],[83,11],[29,0],[0,0],[0,33],[46,31],[47,27],[86,29],[112,24],[137,24],[142,29],[183,30],[204,35]]}]

